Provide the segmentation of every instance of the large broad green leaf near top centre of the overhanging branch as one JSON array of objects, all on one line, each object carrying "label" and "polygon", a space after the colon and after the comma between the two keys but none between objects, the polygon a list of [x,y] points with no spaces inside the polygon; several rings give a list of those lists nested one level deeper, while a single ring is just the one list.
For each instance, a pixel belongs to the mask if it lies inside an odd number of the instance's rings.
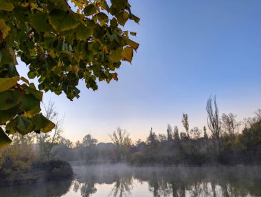
[{"label": "large broad green leaf near top centre of the overhanging branch", "polygon": [[71,30],[80,24],[71,14],[57,9],[49,13],[48,19],[54,30],[58,32]]}]

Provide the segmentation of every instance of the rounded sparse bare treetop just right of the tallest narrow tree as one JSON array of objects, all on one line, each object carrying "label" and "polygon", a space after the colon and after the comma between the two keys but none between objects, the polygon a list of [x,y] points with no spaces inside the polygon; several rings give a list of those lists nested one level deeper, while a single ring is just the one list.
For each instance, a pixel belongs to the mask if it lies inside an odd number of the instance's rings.
[{"label": "rounded sparse bare treetop just right of the tallest narrow tree", "polygon": [[236,115],[232,113],[222,114],[221,116],[221,127],[223,132],[227,132],[232,139],[234,139],[236,134],[238,134],[240,124],[240,122],[236,121]]}]

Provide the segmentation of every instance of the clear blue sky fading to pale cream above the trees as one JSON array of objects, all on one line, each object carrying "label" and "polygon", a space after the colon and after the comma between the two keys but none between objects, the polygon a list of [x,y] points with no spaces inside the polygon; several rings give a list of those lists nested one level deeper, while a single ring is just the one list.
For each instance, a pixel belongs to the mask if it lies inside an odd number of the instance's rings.
[{"label": "clear blue sky fading to pale cream above the trees", "polygon": [[[183,112],[190,127],[206,125],[205,104],[217,96],[220,114],[238,121],[261,107],[261,1],[130,1],[141,18],[126,29],[140,43],[133,63],[123,63],[118,82],[99,83],[97,92],[80,85],[81,96],[47,93],[65,114],[64,135],[73,142],[91,133],[98,141],[121,126],[134,140],[150,127],[165,133],[181,127]],[[21,70],[21,68],[19,68]]]}]

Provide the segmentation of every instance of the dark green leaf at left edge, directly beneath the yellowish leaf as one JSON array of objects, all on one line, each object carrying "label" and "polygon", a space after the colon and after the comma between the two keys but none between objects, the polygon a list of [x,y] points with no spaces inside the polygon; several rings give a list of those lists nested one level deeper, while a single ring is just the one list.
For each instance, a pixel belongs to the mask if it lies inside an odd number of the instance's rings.
[{"label": "dark green leaf at left edge, directly beneath the yellowish leaf", "polygon": [[22,94],[19,91],[0,92],[0,110],[9,110],[20,103]]}]

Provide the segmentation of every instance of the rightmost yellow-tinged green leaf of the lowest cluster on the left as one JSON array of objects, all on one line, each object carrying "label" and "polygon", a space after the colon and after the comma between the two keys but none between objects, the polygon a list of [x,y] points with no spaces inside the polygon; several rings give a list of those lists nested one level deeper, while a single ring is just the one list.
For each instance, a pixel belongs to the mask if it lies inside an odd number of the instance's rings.
[{"label": "rightmost yellow-tinged green leaf of the lowest cluster on the left", "polygon": [[39,129],[41,132],[50,132],[54,129],[55,124],[52,121],[49,121],[43,114],[37,114],[31,118],[32,123],[36,125],[34,129]]}]

